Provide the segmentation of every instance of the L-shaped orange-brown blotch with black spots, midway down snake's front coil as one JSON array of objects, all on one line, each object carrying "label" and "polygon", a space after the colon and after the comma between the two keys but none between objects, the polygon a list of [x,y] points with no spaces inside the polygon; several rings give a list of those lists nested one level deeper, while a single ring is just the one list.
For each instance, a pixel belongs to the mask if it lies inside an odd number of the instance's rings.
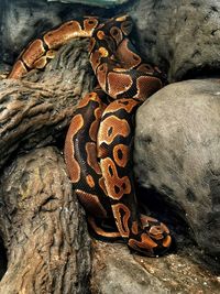
[{"label": "L-shaped orange-brown blotch with black spots, midway down snake's front coil", "polygon": [[110,157],[101,160],[100,166],[109,197],[119,200],[124,194],[131,193],[131,183],[129,177],[119,177],[116,165]]}]

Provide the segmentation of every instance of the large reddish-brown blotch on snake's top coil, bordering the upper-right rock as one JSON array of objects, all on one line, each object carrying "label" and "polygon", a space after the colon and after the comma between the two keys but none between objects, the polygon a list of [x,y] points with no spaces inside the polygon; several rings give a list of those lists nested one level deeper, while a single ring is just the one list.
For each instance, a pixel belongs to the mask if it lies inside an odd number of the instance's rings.
[{"label": "large reddish-brown blotch on snake's top coil, bordering the upper-right rock", "polygon": [[141,57],[129,48],[129,42],[128,39],[124,39],[116,52],[116,56],[125,69],[134,68],[141,63]]}]

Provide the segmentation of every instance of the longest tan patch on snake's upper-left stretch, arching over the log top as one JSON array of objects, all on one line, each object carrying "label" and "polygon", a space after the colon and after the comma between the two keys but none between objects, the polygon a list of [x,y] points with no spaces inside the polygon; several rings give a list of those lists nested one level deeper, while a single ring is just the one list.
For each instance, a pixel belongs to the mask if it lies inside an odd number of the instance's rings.
[{"label": "longest tan patch on snake's upper-left stretch, arching over the log top", "polygon": [[48,48],[57,48],[77,36],[89,37],[91,36],[91,32],[84,31],[78,21],[68,21],[58,29],[46,33],[43,39]]}]

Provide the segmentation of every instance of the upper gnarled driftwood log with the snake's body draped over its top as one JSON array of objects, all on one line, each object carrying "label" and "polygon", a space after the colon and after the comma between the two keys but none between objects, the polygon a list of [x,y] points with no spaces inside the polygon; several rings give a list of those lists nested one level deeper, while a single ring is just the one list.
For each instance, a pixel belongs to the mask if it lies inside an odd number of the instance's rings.
[{"label": "upper gnarled driftwood log with the snake's body draped over its top", "polygon": [[43,146],[65,133],[75,105],[92,87],[87,55],[87,41],[73,42],[45,72],[0,80],[0,168],[19,149]]}]

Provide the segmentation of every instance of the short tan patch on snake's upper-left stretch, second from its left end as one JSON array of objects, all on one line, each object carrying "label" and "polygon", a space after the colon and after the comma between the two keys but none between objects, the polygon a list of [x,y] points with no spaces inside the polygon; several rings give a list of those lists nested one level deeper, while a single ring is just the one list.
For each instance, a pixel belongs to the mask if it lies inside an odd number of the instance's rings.
[{"label": "short tan patch on snake's upper-left stretch, second from its left end", "polygon": [[45,54],[45,48],[42,40],[37,39],[33,41],[29,47],[22,54],[22,61],[30,68],[33,67],[35,61],[42,57]]}]

